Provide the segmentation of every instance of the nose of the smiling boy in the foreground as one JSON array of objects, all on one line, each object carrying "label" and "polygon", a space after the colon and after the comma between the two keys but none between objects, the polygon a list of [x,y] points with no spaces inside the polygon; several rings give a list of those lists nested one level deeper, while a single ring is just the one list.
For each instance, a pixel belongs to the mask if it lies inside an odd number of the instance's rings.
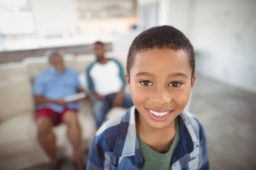
[{"label": "nose of the smiling boy in the foreground", "polygon": [[152,97],[151,97],[151,102],[155,103],[156,105],[165,105],[170,103],[172,100],[169,91],[167,90],[162,90],[162,91],[157,91]]}]

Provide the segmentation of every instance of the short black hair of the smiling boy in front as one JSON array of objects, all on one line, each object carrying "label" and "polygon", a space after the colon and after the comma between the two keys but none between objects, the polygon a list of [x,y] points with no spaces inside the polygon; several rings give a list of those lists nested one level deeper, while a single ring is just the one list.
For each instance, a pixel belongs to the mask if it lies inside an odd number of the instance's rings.
[{"label": "short black hair of the smiling boy in front", "polygon": [[189,65],[192,69],[192,77],[195,74],[195,55],[192,44],[189,39],[178,29],[172,26],[157,26],[143,31],[131,43],[128,52],[126,70],[130,75],[131,67],[134,65],[135,56],[149,49],[183,50],[189,58]]}]

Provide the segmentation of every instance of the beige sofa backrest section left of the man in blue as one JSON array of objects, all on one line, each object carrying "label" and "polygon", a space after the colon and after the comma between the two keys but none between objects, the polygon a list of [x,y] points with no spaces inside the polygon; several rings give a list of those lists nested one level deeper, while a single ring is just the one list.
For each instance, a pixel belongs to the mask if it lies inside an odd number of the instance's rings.
[{"label": "beige sofa backrest section left of the man in blue", "polygon": [[32,86],[25,65],[0,65],[0,121],[33,109]]}]

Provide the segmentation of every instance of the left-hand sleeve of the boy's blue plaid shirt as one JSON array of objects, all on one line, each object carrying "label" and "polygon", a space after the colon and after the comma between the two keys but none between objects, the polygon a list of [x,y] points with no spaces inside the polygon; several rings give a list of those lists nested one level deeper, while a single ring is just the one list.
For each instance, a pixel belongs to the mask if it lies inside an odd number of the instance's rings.
[{"label": "left-hand sleeve of the boy's blue plaid shirt", "polygon": [[110,169],[111,161],[96,138],[95,136],[90,147],[86,170]]}]

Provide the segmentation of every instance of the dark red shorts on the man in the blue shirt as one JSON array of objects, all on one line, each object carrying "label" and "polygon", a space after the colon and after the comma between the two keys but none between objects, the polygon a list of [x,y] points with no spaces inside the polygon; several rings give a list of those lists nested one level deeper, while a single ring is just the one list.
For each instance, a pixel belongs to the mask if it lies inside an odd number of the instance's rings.
[{"label": "dark red shorts on the man in the blue shirt", "polygon": [[67,111],[77,112],[76,109],[70,109],[70,108],[65,108],[65,110],[61,113],[52,111],[50,108],[42,108],[36,111],[35,120],[38,120],[41,117],[48,117],[49,119],[52,120],[54,125],[58,125],[62,122],[63,116],[65,113],[67,113]]}]

